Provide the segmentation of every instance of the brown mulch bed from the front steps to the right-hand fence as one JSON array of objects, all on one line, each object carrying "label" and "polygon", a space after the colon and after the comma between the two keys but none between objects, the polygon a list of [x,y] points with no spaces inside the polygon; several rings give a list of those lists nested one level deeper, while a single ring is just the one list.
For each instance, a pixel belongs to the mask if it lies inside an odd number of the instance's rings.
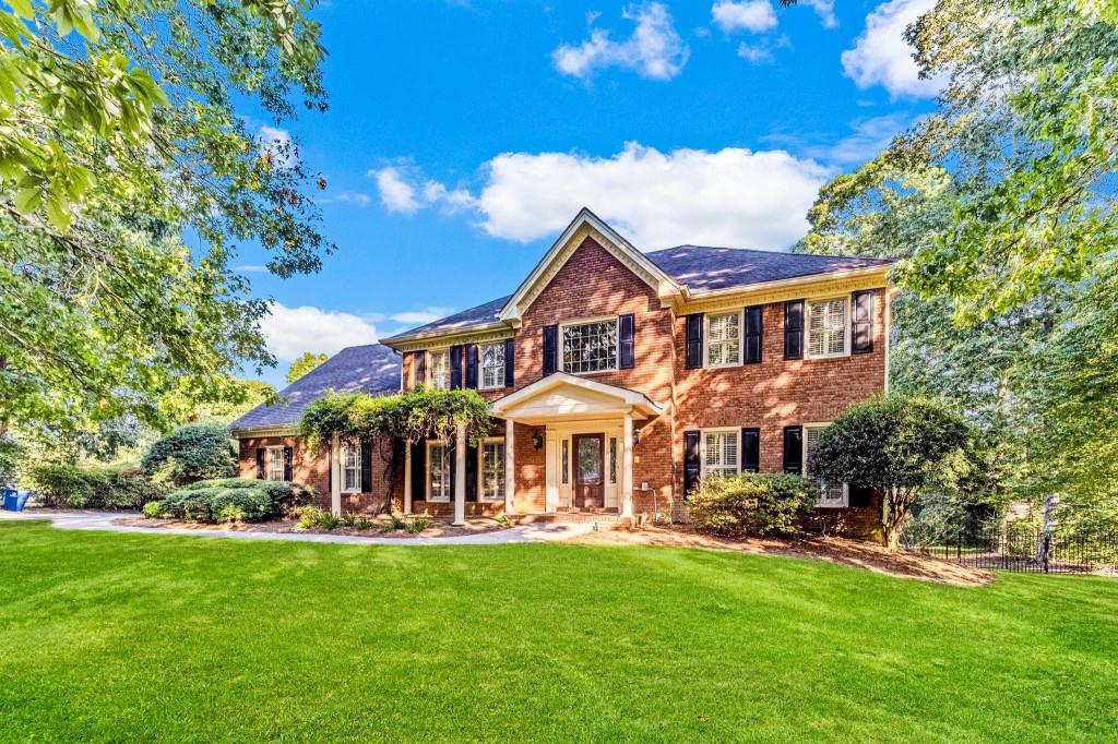
[{"label": "brown mulch bed from the front steps to the right-hand fence", "polygon": [[743,553],[793,555],[884,573],[904,579],[935,581],[947,584],[977,586],[994,581],[994,574],[982,569],[958,565],[949,561],[898,551],[890,553],[882,545],[844,537],[804,537],[766,540],[749,537],[729,540],[703,535],[685,526],[646,526],[639,530],[590,532],[574,542],[616,545],[664,545],[705,550],[740,551]]}]

